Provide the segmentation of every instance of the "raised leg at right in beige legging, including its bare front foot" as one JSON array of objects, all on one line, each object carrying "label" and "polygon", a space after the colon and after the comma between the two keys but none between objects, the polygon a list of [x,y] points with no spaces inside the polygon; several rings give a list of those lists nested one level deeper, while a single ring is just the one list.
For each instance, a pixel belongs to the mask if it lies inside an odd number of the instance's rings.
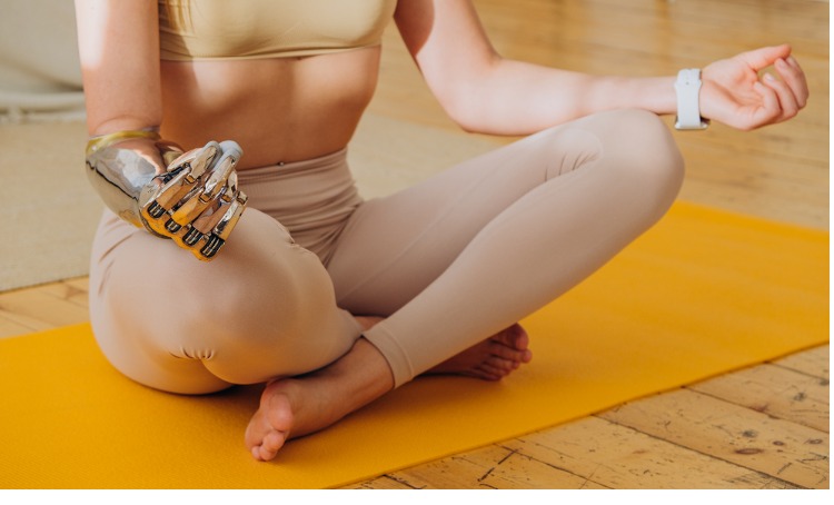
[{"label": "raised leg at right in beige legging, including its bare front foot", "polygon": [[[613,111],[461,164],[354,216],[328,265],[339,306],[385,316],[332,365],[276,380],[258,459],[557,298],[654,225],[683,161],[663,122]],[[326,408],[322,408],[326,405]]]}]

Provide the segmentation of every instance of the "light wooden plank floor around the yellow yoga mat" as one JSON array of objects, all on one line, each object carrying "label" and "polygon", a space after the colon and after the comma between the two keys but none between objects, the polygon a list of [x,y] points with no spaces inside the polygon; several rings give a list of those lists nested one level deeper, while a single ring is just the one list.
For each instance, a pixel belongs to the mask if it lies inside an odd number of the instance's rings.
[{"label": "light wooden plank floor around the yellow yoga mat", "polygon": [[[682,198],[828,228],[828,3],[812,0],[476,0],[505,56],[589,72],[672,75],[791,42],[812,101],[794,121],[675,133]],[[386,34],[374,113],[439,129],[405,49]],[[498,142],[509,139],[498,139]],[[826,275],[820,273],[820,275]],[[0,294],[0,336],[88,319],[86,278]],[[355,488],[827,488],[828,346]]]}]

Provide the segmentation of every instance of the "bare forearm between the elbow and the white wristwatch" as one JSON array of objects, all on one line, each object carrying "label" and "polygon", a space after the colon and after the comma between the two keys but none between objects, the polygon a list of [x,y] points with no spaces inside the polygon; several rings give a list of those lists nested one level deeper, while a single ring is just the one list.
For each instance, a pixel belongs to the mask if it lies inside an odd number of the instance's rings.
[{"label": "bare forearm between the elbow and the white wristwatch", "polygon": [[528,135],[612,109],[674,113],[674,77],[592,76],[496,59],[480,79],[459,90],[449,112],[468,131]]}]

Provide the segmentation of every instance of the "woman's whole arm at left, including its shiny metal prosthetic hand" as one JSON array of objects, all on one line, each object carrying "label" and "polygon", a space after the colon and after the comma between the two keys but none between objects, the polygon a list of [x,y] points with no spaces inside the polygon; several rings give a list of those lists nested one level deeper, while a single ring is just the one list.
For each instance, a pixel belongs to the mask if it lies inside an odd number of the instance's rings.
[{"label": "woman's whole arm at left, including its shiny metal prosthetic hand", "polygon": [[76,0],[88,130],[117,132],[88,145],[87,172],[120,218],[210,260],[246,207],[235,175],[241,150],[227,141],[182,154],[142,132],[162,122],[158,7]]}]

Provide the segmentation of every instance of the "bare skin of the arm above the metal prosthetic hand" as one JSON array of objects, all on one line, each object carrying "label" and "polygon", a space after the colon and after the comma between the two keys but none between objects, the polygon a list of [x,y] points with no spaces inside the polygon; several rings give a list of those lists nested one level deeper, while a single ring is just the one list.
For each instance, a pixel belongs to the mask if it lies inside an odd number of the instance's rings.
[{"label": "bare skin of the arm above the metal prosthetic hand", "polygon": [[159,126],[159,21],[155,0],[76,0],[91,135]]}]

